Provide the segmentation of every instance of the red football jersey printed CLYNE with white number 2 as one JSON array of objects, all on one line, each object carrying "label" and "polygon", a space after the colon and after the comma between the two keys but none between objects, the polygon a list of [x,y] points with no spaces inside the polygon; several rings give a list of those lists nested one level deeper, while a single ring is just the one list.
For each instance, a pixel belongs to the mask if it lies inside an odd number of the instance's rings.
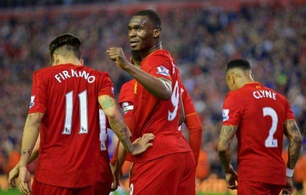
[{"label": "red football jersey printed CLYNE with white number 2", "polygon": [[294,116],[285,96],[252,82],[227,94],[223,125],[237,129],[238,181],[284,185],[284,124]]}]

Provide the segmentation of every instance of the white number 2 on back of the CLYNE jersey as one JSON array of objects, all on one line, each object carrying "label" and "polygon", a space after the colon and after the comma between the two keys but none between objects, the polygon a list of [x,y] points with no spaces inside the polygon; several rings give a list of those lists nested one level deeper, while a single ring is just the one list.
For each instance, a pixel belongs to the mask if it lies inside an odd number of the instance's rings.
[{"label": "white number 2 on back of the CLYNE jersey", "polygon": [[264,117],[270,116],[272,118],[272,125],[269,129],[269,136],[265,140],[265,146],[267,148],[277,148],[277,139],[273,139],[273,135],[275,134],[277,129],[277,122],[278,122],[277,114],[275,110],[271,107],[264,107],[263,114]]}]

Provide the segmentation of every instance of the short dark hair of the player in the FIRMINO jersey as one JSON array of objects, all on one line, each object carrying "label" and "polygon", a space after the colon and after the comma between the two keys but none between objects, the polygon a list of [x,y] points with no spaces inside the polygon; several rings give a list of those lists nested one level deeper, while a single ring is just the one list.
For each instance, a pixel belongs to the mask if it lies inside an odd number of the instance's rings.
[{"label": "short dark hair of the player in the FIRMINO jersey", "polygon": [[81,40],[72,34],[63,34],[59,37],[55,38],[50,45],[49,45],[49,53],[51,56],[51,60],[53,61],[53,54],[60,53],[60,54],[67,54],[72,53],[78,59],[81,59]]}]

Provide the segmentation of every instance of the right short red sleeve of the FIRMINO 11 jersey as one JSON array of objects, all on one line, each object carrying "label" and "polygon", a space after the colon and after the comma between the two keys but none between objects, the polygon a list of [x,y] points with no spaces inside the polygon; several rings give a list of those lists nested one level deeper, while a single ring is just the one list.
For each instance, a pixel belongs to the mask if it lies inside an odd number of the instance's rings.
[{"label": "right short red sleeve of the FIRMINO 11 jersey", "polygon": [[99,76],[99,89],[98,96],[100,95],[110,95],[112,98],[115,98],[114,94],[114,84],[110,79],[108,73],[101,73]]}]

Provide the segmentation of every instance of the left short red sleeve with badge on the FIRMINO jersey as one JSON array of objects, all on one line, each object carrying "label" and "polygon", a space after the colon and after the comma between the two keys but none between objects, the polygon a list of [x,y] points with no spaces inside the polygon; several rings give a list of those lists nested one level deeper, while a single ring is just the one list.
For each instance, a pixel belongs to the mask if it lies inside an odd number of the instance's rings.
[{"label": "left short red sleeve with badge on the FIRMINO jersey", "polygon": [[47,111],[47,92],[48,87],[45,81],[38,73],[34,73],[29,114],[35,112],[45,113]]}]

